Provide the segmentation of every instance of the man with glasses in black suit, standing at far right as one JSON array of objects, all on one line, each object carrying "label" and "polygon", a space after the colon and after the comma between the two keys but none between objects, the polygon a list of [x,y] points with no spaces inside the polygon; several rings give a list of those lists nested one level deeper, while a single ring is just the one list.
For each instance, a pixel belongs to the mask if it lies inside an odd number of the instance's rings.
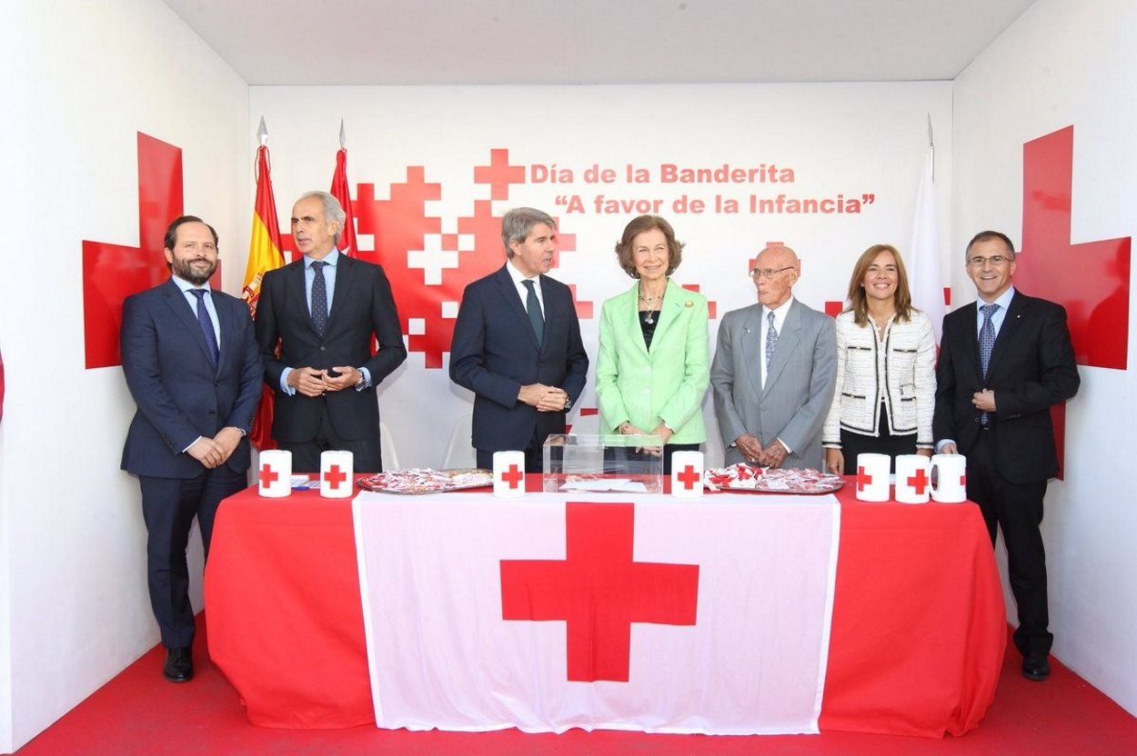
[{"label": "man with glasses in black suit, standing at far right", "polygon": [[966,455],[968,498],[979,504],[991,545],[1003,531],[1019,607],[1014,644],[1023,677],[1041,681],[1054,641],[1039,531],[1047,480],[1059,471],[1051,408],[1080,381],[1065,309],[1014,288],[1014,257],[999,232],[968,244],[979,300],[944,318],[932,430],[941,454]]}]

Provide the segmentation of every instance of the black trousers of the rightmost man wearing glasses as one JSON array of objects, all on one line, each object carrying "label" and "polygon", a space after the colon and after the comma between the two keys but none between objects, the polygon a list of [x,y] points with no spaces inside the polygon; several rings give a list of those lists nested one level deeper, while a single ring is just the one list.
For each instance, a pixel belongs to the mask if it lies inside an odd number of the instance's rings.
[{"label": "black trousers of the rightmost man wearing glasses", "polygon": [[1038,529],[1043,521],[1046,481],[1026,485],[1007,481],[994,462],[988,436],[991,432],[998,431],[980,431],[968,454],[968,498],[979,504],[991,546],[997,530],[1003,531],[1011,593],[1019,608],[1014,645],[1023,656],[1045,656],[1054,642],[1054,636],[1047,630],[1046,548]]}]

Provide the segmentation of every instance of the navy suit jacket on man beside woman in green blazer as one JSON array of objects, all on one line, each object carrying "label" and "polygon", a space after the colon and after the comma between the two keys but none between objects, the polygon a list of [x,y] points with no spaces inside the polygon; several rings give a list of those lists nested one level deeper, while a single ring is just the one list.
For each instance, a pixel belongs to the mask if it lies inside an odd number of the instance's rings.
[{"label": "navy suit jacket on man beside woman in green blazer", "polygon": [[[508,263],[506,263],[508,264]],[[483,452],[525,450],[533,435],[563,434],[563,412],[517,400],[529,384],[557,386],[575,402],[588,354],[568,287],[541,276],[545,338],[537,336],[509,271],[501,267],[466,287],[450,344],[450,379],[474,393],[473,444]]]}]

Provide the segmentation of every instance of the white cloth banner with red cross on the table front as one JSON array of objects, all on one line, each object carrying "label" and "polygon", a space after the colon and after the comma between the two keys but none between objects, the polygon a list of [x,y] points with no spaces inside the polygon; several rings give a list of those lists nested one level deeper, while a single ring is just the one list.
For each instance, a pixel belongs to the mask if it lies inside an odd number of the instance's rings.
[{"label": "white cloth banner with red cross on the table front", "polygon": [[818,732],[840,509],[362,494],[381,728]]}]

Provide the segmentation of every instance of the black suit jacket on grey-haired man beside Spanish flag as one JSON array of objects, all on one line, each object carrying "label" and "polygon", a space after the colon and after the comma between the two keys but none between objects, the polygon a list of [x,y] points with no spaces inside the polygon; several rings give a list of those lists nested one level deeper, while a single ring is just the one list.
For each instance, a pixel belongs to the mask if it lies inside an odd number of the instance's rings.
[{"label": "black suit jacket on grey-haired man beside Spanish flag", "polygon": [[[407,359],[399,314],[391,286],[376,264],[340,255],[335,266],[335,292],[327,313],[324,337],[316,335],[304,287],[304,260],[269,270],[260,283],[257,304],[257,342],[265,363],[265,383],[273,389],[273,438],[279,442],[312,440],[327,408],[332,428],[351,440],[379,438],[379,403],[375,387]],[[379,352],[371,353],[372,334]],[[276,344],[280,342],[280,355]],[[324,396],[289,396],[281,390],[284,368],[367,368],[371,386],[346,388]]]}]

